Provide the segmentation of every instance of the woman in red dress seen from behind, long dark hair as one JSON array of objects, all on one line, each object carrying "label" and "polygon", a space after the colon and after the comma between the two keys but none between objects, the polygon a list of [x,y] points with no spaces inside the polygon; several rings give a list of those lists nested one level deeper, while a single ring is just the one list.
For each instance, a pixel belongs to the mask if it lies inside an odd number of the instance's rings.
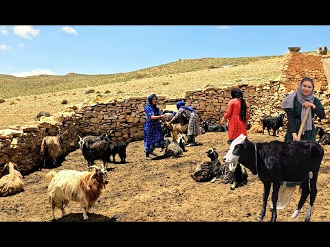
[{"label": "woman in red dress seen from behind, long dark hair", "polygon": [[240,134],[244,134],[248,137],[246,127],[248,126],[249,115],[249,102],[246,102],[243,93],[239,87],[233,88],[230,92],[232,99],[228,102],[225,115],[221,119],[221,126],[225,124],[225,121],[229,119],[228,124],[228,139],[235,139]]}]

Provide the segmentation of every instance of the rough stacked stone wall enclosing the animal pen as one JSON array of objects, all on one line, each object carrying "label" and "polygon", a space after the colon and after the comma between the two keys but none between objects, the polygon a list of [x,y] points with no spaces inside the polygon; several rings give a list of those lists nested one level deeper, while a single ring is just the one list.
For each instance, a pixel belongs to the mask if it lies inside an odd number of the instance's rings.
[{"label": "rough stacked stone wall enclosing the animal pen", "polygon": [[[330,86],[321,62],[321,59],[329,57],[287,52],[281,80],[257,85],[236,85],[243,90],[245,99],[251,104],[251,124],[261,125],[260,121],[264,115],[276,116],[283,113],[280,106],[285,96],[296,90],[300,78],[309,76],[316,83],[314,95],[325,106],[326,113],[325,119],[315,119],[315,124],[322,126],[325,130],[330,130]],[[187,106],[195,108],[200,119],[219,123],[231,98],[232,87],[187,91],[183,97],[176,99],[157,95],[158,107],[164,109],[184,99]],[[110,102],[102,102],[102,99],[96,98],[92,102],[83,102],[67,108],[67,111],[55,116],[41,117],[40,121],[33,126],[17,125],[0,130],[0,165],[10,160],[14,161],[23,175],[39,169],[42,165],[41,141],[47,134],[58,134],[59,128],[61,128],[61,133],[66,131],[63,135],[61,151],[63,156],[78,148],[78,134],[80,136],[98,135],[107,130],[113,130],[113,139],[129,142],[143,140],[143,128],[146,121],[145,104],[146,97],[113,99]],[[279,133],[284,135],[285,130],[281,128]]]}]

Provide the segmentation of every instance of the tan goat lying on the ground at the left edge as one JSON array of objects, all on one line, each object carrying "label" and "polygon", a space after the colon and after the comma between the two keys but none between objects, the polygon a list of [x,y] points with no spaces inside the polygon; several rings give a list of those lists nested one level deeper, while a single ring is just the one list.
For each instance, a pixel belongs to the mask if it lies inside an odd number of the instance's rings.
[{"label": "tan goat lying on the ground at the left edge", "polygon": [[[16,169],[14,169],[16,167]],[[16,164],[8,162],[2,172],[8,169],[9,174],[0,178],[0,196],[12,196],[15,193],[24,191],[24,182],[21,172]]]}]

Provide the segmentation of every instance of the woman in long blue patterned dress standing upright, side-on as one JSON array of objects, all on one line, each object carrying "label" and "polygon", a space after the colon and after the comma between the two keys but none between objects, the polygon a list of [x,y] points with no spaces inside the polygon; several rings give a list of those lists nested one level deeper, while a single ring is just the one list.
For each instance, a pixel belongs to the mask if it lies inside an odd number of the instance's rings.
[{"label": "woman in long blue patterned dress standing upright, side-on", "polygon": [[144,124],[144,151],[146,159],[151,160],[149,154],[157,156],[153,150],[155,148],[164,148],[164,138],[162,126],[159,119],[167,119],[157,108],[157,96],[155,94],[148,96],[148,104],[144,107],[146,114],[146,123]]}]

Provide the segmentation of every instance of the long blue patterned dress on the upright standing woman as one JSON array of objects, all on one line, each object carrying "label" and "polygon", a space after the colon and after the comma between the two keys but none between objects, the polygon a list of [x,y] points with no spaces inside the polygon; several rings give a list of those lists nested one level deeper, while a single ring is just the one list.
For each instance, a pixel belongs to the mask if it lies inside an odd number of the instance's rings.
[{"label": "long blue patterned dress on the upright standing woman", "polygon": [[159,119],[150,119],[153,115],[161,115],[160,110],[148,104],[144,107],[144,113],[146,114],[146,124],[144,124],[144,151],[147,154],[148,152],[152,152],[155,148],[164,147],[164,138]]}]

